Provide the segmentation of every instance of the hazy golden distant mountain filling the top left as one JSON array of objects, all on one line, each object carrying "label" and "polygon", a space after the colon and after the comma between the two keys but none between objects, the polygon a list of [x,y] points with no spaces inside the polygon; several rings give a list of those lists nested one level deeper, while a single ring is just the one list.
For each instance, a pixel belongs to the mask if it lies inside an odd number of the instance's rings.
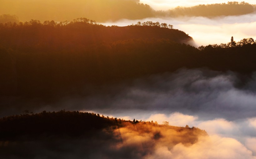
[{"label": "hazy golden distant mountain filling the top left", "polygon": [[154,10],[138,0],[1,0],[1,14],[17,15],[23,22],[30,19],[63,21],[76,17],[103,22],[152,17]]}]

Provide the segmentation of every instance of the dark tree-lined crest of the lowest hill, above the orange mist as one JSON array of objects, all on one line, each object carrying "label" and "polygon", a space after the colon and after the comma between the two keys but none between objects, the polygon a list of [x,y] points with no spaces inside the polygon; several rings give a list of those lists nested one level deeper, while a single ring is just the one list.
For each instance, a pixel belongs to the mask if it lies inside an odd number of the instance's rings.
[{"label": "dark tree-lined crest of the lowest hill, above the orange mist", "polygon": [[[79,111],[42,111],[40,113],[33,113],[24,111],[20,115],[12,115],[0,118],[0,139],[1,140],[16,140],[24,135],[30,138],[38,137],[42,134],[46,135],[69,135],[81,136],[92,135],[97,131],[103,129],[118,129],[127,125],[150,125],[150,126],[164,126],[158,125],[153,121],[139,121],[139,120],[124,120],[113,117],[108,117],[100,114],[79,112]],[[177,131],[197,131],[202,134],[207,134],[198,128],[176,127],[168,126],[170,129],[177,129]],[[185,130],[186,129],[186,130]],[[91,136],[90,136],[91,137]]]}]

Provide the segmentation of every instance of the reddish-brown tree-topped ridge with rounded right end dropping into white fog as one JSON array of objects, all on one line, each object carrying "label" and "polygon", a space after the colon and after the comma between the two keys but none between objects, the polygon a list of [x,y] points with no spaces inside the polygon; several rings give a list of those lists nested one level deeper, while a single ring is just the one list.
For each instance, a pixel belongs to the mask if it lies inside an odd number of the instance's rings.
[{"label": "reddish-brown tree-topped ridge with rounded right end dropping into white fog", "polygon": [[86,18],[60,23],[30,20],[19,24],[0,24],[0,46],[19,50],[36,48],[61,51],[72,47],[76,50],[90,49],[93,45],[128,39],[168,39],[178,43],[193,41],[185,32],[169,26],[152,21],[145,22],[143,26],[104,26]]}]

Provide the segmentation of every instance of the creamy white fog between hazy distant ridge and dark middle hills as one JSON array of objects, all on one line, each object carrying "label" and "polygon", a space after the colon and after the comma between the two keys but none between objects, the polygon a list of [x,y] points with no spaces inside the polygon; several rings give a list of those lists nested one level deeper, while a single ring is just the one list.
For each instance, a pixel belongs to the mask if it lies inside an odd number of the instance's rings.
[{"label": "creamy white fog between hazy distant ridge and dark middle hills", "polygon": [[159,21],[160,23],[174,25],[174,29],[182,30],[194,39],[195,47],[228,43],[231,36],[234,37],[234,41],[240,41],[244,38],[256,39],[256,14],[223,16],[211,19],[206,17],[146,18],[143,20],[120,20],[102,24],[127,26],[137,24],[138,21]]}]

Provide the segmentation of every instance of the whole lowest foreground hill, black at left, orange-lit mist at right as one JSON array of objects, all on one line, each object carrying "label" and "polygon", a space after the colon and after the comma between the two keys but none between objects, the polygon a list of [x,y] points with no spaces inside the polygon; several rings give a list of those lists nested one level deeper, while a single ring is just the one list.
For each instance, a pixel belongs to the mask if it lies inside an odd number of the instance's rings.
[{"label": "whole lowest foreground hill, black at left, orange-lit mist at right", "polygon": [[207,137],[195,127],[138,120],[65,110],[0,118],[0,158],[142,158],[160,144],[173,148]]}]

